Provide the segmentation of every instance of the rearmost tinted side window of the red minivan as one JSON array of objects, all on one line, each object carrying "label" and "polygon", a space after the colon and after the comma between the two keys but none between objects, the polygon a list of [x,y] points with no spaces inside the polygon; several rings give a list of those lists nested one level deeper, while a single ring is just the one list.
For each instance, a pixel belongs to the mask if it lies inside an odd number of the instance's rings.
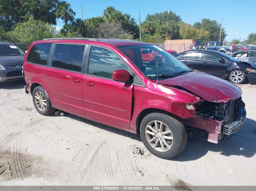
[{"label": "rearmost tinted side window of the red minivan", "polygon": [[51,46],[52,43],[34,45],[28,53],[27,62],[46,66]]}]

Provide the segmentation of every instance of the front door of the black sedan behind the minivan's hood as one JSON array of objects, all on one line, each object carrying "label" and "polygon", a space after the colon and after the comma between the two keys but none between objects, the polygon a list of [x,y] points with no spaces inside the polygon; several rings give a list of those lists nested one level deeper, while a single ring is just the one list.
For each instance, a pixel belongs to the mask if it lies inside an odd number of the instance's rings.
[{"label": "front door of the black sedan behind the minivan's hood", "polygon": [[214,54],[202,53],[201,65],[198,70],[220,78],[226,78],[228,63],[221,63],[220,58]]}]

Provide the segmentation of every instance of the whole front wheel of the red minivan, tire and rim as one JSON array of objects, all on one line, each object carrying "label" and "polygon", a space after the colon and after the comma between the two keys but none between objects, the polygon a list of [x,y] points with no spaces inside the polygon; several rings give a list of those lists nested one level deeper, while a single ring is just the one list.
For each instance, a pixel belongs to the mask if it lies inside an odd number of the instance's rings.
[{"label": "whole front wheel of the red minivan, tire and rim", "polygon": [[174,158],[183,151],[187,143],[184,125],[164,113],[150,113],[140,125],[141,140],[155,156],[163,159]]}]

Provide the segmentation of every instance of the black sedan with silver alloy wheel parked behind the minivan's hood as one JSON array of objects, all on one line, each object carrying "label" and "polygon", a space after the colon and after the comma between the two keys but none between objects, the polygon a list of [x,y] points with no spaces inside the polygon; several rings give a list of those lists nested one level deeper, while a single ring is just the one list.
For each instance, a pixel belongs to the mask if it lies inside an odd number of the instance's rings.
[{"label": "black sedan with silver alloy wheel parked behind the minivan's hood", "polygon": [[232,83],[241,84],[246,78],[256,83],[256,64],[243,62],[214,50],[188,50],[176,57],[188,67],[205,72]]}]

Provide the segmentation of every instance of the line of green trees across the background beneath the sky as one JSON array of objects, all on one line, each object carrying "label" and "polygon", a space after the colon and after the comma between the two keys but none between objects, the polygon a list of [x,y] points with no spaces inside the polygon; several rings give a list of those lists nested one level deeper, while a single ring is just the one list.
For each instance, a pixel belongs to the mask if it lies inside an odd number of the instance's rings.
[{"label": "line of green trees across the background beneath the sky", "polygon": [[[125,38],[139,40],[138,20],[108,6],[103,14],[85,20],[75,19],[75,11],[62,0],[0,0],[0,39],[31,43],[51,37]],[[64,26],[56,31],[57,19]],[[193,25],[185,23],[172,11],[148,14],[141,23],[144,42],[198,39],[218,41],[220,24],[203,18]],[[226,32],[222,28],[221,41]]]}]

